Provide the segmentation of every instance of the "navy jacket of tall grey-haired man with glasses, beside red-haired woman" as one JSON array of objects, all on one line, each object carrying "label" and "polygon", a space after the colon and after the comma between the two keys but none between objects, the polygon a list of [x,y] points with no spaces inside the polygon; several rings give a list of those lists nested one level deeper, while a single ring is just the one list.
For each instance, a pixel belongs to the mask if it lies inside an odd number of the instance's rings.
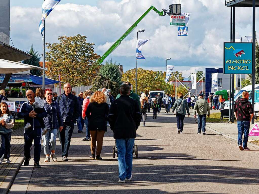
[{"label": "navy jacket of tall grey-haired man with glasses, beside red-haired woman", "polygon": [[57,102],[59,104],[62,121],[75,123],[80,115],[80,107],[77,97],[71,93],[68,94],[68,96],[63,93],[57,97]]}]

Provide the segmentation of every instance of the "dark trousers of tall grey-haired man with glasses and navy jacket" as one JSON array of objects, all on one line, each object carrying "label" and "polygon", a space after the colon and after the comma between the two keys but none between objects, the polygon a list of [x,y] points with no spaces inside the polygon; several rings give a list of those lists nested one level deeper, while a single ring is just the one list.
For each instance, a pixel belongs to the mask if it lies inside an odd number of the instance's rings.
[{"label": "dark trousers of tall grey-haired man with glasses and navy jacket", "polygon": [[74,131],[73,122],[64,122],[63,125],[64,127],[62,131],[59,131],[59,140],[61,144],[62,157],[68,156],[70,141],[71,141],[72,133]]}]

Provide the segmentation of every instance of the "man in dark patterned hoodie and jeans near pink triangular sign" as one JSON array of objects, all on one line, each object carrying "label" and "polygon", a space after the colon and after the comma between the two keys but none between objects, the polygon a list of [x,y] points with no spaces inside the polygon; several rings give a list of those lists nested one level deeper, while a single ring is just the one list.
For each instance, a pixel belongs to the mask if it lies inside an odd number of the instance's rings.
[{"label": "man in dark patterned hoodie and jeans near pink triangular sign", "polygon": [[[254,116],[254,109],[251,102],[248,101],[249,93],[244,91],[242,98],[235,101],[234,114],[238,121],[238,147],[240,150],[250,150],[247,147],[248,134],[250,129],[250,122]],[[244,141],[242,146],[242,138],[244,135]]]}]

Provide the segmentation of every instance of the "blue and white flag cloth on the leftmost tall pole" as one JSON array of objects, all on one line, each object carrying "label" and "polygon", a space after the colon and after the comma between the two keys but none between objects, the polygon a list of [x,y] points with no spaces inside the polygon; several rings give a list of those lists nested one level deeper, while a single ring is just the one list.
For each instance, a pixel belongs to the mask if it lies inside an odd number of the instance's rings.
[{"label": "blue and white flag cloth on the leftmost tall pole", "polygon": [[43,36],[44,26],[43,21],[46,19],[46,17],[49,15],[49,13],[55,8],[55,6],[60,2],[61,0],[45,0],[41,6],[42,15],[41,15],[41,21],[39,25],[39,31],[41,35]]}]

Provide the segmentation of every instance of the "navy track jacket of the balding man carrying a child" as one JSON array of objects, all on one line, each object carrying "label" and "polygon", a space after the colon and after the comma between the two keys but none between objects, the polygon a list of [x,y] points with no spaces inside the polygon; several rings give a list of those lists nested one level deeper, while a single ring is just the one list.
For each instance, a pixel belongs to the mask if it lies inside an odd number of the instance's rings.
[{"label": "navy track jacket of the balding man carrying a child", "polygon": [[20,111],[18,113],[18,117],[19,118],[24,118],[24,126],[27,124],[27,123],[30,123],[31,124],[31,128],[29,129],[41,129],[41,125],[40,125],[40,122],[38,120],[37,117],[39,118],[44,118],[47,116],[47,112],[44,111],[43,113],[38,113],[35,117],[35,118],[32,118],[32,117],[29,117],[29,113],[34,110],[34,106],[30,105],[30,102],[27,101],[27,102],[24,102],[21,107],[20,107]]}]

